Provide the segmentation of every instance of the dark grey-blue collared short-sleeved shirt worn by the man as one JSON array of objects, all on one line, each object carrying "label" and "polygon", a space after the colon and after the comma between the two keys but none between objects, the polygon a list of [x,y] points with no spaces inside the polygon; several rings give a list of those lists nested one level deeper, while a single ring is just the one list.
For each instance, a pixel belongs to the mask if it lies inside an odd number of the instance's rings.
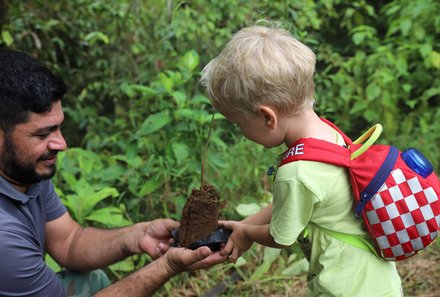
[{"label": "dark grey-blue collared short-sleeved shirt worn by the man", "polygon": [[66,295],[44,262],[45,224],[65,212],[50,180],[24,194],[0,177],[0,296]]}]

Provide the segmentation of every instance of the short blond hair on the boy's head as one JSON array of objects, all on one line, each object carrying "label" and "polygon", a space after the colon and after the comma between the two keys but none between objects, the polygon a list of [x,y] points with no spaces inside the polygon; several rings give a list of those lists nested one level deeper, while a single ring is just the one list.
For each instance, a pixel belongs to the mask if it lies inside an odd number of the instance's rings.
[{"label": "short blond hair on the boy's head", "polygon": [[269,105],[297,113],[314,102],[315,54],[281,28],[241,29],[202,72],[201,83],[216,107],[256,112]]}]

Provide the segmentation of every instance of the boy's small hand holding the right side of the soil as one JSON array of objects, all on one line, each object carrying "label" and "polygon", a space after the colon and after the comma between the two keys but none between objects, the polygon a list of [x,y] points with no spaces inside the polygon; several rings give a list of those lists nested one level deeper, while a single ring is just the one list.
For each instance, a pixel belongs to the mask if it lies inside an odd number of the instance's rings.
[{"label": "boy's small hand holding the right side of the soil", "polygon": [[219,221],[219,224],[223,225],[225,229],[232,230],[232,234],[229,236],[226,246],[220,251],[220,255],[229,255],[229,261],[236,263],[237,259],[254,243],[246,237],[246,229],[252,225],[236,221]]}]

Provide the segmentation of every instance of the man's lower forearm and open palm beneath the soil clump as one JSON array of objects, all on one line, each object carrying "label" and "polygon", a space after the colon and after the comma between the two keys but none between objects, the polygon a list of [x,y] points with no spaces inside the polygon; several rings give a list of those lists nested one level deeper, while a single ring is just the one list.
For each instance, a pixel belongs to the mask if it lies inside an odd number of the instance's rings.
[{"label": "man's lower forearm and open palm beneath the soil clump", "polygon": [[94,297],[151,296],[181,271],[211,267],[227,259],[219,253],[213,254],[208,247],[200,247],[195,251],[170,248],[164,256],[100,291]]}]

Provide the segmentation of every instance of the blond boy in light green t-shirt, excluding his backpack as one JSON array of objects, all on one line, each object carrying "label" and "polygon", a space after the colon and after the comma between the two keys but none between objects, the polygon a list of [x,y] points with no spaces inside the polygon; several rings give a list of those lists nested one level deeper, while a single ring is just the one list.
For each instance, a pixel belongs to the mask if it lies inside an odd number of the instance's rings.
[{"label": "blond boy in light green t-shirt, excluding his backpack", "polygon": [[[289,148],[307,137],[344,145],[313,110],[314,72],[314,53],[288,31],[253,26],[233,36],[203,69],[201,82],[214,107],[266,148]],[[272,205],[241,222],[224,222],[233,233],[222,253],[235,262],[254,242],[284,248],[302,241],[307,229],[310,296],[401,296],[394,263],[325,232],[368,238],[353,212],[344,168],[291,162],[277,170]]]}]

